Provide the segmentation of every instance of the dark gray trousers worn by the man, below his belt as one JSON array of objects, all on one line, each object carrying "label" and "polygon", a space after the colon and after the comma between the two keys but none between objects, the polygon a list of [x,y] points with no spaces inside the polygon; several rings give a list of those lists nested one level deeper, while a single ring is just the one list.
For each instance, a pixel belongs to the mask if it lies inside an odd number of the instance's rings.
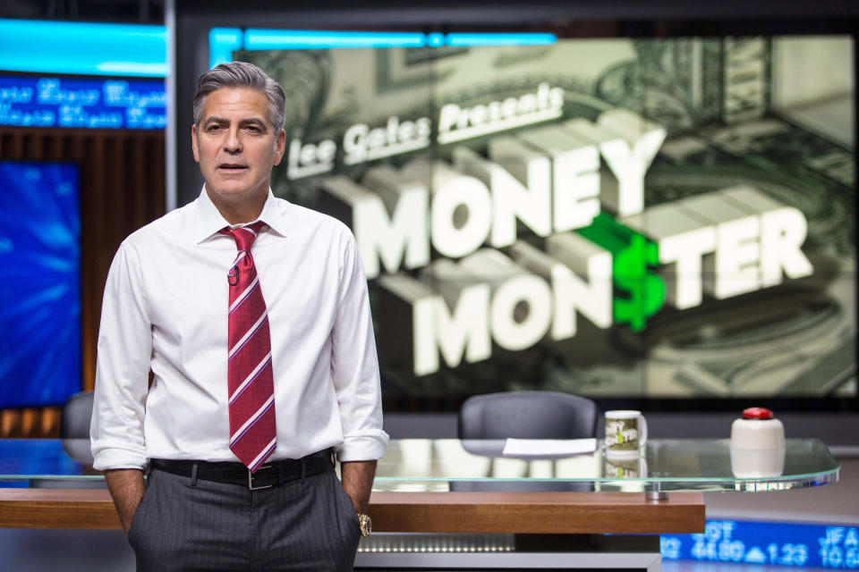
[{"label": "dark gray trousers worn by the man, below his belt", "polygon": [[257,491],[153,470],[128,541],[139,572],[341,572],[360,536],[333,469]]}]

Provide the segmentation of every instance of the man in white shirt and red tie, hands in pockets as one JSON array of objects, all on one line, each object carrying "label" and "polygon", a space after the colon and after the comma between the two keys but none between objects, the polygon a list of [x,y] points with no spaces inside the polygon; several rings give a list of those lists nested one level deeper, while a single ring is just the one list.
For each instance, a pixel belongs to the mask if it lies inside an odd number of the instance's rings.
[{"label": "man in white shirt and red tie, hands in pockets", "polygon": [[387,434],[367,282],[343,224],[271,194],[284,115],[250,63],[200,76],[200,197],[107,277],[92,452],[139,570],[348,570],[369,533]]}]

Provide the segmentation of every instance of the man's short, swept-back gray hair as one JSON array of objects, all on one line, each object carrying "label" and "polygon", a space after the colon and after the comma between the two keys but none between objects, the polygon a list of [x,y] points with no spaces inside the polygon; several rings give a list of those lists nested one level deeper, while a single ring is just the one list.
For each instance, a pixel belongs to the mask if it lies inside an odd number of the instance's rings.
[{"label": "man's short, swept-back gray hair", "polygon": [[194,125],[197,127],[200,127],[206,97],[220,88],[250,88],[262,92],[268,98],[268,119],[275,130],[283,129],[286,116],[284,88],[269,78],[265,71],[247,62],[218,63],[200,76],[193,103]]}]

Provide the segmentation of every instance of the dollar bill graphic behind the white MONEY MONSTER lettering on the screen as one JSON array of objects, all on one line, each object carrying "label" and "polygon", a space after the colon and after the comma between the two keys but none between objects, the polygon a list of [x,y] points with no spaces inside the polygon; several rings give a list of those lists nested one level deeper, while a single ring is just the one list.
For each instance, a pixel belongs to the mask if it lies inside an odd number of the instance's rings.
[{"label": "dollar bill graphic behind the white MONEY MONSTER lettering on the screen", "polygon": [[[645,206],[746,184],[795,206],[808,222],[803,251],[811,276],[676,310],[663,304],[654,245],[616,228],[619,242],[609,248],[597,238],[600,224],[603,236],[612,225],[623,227],[601,214],[578,232],[613,254],[611,327],[580,315],[578,331],[566,340],[546,337],[515,351],[496,346],[489,358],[455,367],[442,360],[426,375],[414,374],[404,357],[412,335],[408,308],[382,311],[384,293],[371,280],[389,402],[410,408],[416,399],[455,402],[525,389],[619,398],[855,398],[851,38],[611,38],[552,46],[248,51],[234,58],[257,63],[284,85],[288,141],[336,142],[328,172],[295,177],[285,165],[276,169],[275,194],[297,204],[324,210],[323,184],[332,175],[361,181],[371,167],[398,169],[416,157],[450,163],[456,146],[486,156],[489,141],[506,133],[438,144],[438,110],[520,97],[547,83],[564,90],[563,116],[549,124],[595,121],[620,108],[667,131],[645,178]],[[429,145],[347,164],[344,132],[358,123],[384,126],[392,116],[430,118]],[[519,238],[546,250],[545,240],[523,225]],[[438,262],[438,254],[433,258]],[[438,272],[406,274],[429,290],[449,290]],[[455,303],[445,295],[448,305]]]}]

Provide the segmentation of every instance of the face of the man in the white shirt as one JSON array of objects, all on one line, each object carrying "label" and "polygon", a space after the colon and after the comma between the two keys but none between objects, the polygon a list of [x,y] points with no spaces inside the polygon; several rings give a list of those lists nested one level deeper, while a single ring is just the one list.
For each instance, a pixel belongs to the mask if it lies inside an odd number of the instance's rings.
[{"label": "face of the man in the white shirt", "polygon": [[272,125],[261,91],[220,88],[208,94],[200,128],[191,128],[191,146],[213,202],[237,205],[268,194],[285,139],[285,131]]}]

